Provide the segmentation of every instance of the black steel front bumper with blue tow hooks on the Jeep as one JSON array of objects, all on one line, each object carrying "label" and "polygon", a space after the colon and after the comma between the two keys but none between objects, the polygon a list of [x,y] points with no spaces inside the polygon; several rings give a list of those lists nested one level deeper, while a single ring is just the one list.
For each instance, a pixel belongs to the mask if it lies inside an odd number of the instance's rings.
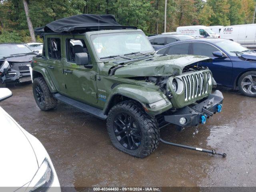
[{"label": "black steel front bumper with blue tow hooks on the Jeep", "polygon": [[[208,98],[194,106],[186,106],[174,112],[171,115],[165,115],[164,120],[167,123],[175,124],[177,126],[197,126],[204,122],[203,119],[209,118],[218,112],[218,106],[222,106],[223,95],[219,90],[210,94]],[[204,117],[202,117],[204,116]],[[180,118],[186,118],[185,124],[180,124]]]}]

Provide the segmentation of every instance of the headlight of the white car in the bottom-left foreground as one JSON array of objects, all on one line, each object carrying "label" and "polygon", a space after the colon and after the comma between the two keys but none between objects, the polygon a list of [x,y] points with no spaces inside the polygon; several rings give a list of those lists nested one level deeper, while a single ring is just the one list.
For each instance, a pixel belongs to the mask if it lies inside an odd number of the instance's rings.
[{"label": "headlight of the white car in the bottom-left foreground", "polygon": [[52,185],[53,178],[52,168],[47,158],[45,158],[30,182],[30,192],[46,192]]}]

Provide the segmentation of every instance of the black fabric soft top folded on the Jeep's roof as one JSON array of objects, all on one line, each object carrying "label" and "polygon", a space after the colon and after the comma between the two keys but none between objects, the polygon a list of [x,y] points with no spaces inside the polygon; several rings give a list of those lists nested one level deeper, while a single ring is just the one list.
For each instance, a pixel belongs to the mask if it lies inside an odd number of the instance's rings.
[{"label": "black fabric soft top folded on the Jeep's roof", "polygon": [[116,22],[114,15],[80,14],[50,22],[44,27],[36,28],[34,31],[35,34],[42,34],[44,32],[86,32],[101,29],[123,28],[136,29],[134,26],[120,25]]}]

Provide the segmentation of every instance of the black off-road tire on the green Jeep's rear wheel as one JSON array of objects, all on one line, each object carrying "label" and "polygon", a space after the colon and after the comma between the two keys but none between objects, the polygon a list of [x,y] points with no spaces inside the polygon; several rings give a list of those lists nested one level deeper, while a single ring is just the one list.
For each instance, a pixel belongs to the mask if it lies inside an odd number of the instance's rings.
[{"label": "black off-road tire on the green Jeep's rear wheel", "polygon": [[[42,90],[42,95],[44,97],[44,104],[40,104],[36,96],[36,87],[39,86]],[[57,106],[57,100],[52,96],[48,85],[43,77],[38,77],[33,80],[33,95],[36,100],[36,104],[42,111],[48,111]]]}]

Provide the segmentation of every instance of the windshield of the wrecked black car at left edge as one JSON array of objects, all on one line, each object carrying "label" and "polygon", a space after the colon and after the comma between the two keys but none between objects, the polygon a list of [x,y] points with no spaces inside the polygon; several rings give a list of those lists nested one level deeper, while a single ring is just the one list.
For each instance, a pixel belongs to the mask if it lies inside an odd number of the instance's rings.
[{"label": "windshield of the wrecked black car at left edge", "polygon": [[0,57],[6,57],[13,54],[31,53],[32,51],[23,44],[2,44],[0,45]]}]

